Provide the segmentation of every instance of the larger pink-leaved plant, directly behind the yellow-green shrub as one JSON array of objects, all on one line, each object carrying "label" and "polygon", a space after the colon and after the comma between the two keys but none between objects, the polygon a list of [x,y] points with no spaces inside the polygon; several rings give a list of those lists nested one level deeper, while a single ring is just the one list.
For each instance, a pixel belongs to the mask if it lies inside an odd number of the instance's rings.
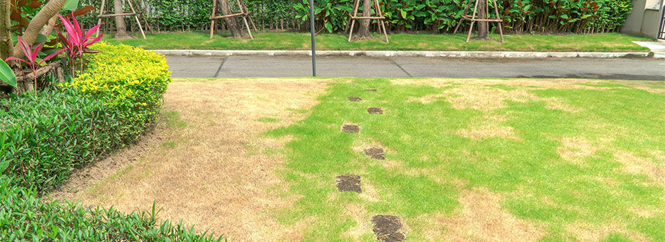
[{"label": "larger pink-leaved plant, directly behind the yellow-green shrub", "polygon": [[[76,21],[76,17],[71,15],[71,19],[73,22],[69,21],[69,16],[68,17],[62,17],[62,15],[57,15],[57,17],[60,17],[60,21],[62,21],[62,25],[64,26],[64,30],[67,32],[67,36],[62,35],[62,32],[58,31],[57,28],[55,28],[55,31],[57,32],[57,35],[59,35],[59,41],[60,44],[62,44],[62,51],[64,51],[67,54],[67,57],[69,57],[69,64],[73,64],[76,59],[80,59],[80,70],[83,70],[83,54],[84,53],[97,53],[98,51],[92,50],[88,48],[88,46],[91,46],[92,44],[97,43],[100,41],[103,37],[103,35],[100,35],[99,37],[92,38],[92,34],[99,28],[101,24],[98,24],[91,29],[87,30],[86,32],[83,32],[81,30],[80,24],[78,24],[78,21]],[[61,50],[58,50],[62,52]]]}]

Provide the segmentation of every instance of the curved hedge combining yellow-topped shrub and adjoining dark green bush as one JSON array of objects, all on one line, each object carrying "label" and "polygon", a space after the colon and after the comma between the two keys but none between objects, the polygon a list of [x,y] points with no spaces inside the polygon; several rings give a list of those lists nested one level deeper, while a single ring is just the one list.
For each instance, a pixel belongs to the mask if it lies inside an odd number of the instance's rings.
[{"label": "curved hedge combining yellow-topped shrub and adjoining dark green bush", "polygon": [[130,46],[94,48],[102,53],[64,90],[0,100],[0,161],[18,185],[52,189],[154,123],[171,81],[166,60]]}]

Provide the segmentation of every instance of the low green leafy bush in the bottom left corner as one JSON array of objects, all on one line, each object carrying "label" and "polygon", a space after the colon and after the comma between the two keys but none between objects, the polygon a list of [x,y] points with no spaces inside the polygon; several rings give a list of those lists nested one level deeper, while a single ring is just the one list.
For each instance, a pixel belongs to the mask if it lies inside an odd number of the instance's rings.
[{"label": "low green leafy bush in the bottom left corner", "polygon": [[0,241],[221,241],[193,227],[158,223],[150,212],[122,214],[68,201],[47,202],[0,176]]}]

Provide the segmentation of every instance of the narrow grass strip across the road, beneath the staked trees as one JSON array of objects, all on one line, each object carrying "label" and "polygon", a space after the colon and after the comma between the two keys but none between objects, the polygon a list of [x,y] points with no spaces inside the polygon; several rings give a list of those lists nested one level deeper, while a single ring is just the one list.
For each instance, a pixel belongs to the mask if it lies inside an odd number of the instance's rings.
[{"label": "narrow grass strip across the road, beneath the staked trees", "polygon": [[[310,35],[302,32],[261,32],[256,39],[230,39],[215,35],[209,39],[205,32],[172,32],[147,35],[148,39],[116,41],[113,35],[105,40],[147,49],[213,49],[213,50],[307,50]],[[398,34],[389,35],[390,44],[382,37],[347,43],[345,35],[321,34],[317,36],[319,50],[519,50],[519,51],[630,51],[648,50],[633,40],[650,39],[616,33],[596,35],[506,35],[505,42],[498,35],[489,41],[472,39],[466,35]]]}]

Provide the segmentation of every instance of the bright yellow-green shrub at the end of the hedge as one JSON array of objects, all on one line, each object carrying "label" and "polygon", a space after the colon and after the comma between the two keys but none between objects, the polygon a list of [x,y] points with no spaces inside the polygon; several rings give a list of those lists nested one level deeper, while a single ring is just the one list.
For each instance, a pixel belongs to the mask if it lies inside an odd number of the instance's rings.
[{"label": "bright yellow-green shrub at the end of the hedge", "polygon": [[162,95],[172,81],[163,55],[105,42],[92,46],[87,70],[71,84],[120,113],[125,129],[118,135],[138,138],[159,112]]}]

